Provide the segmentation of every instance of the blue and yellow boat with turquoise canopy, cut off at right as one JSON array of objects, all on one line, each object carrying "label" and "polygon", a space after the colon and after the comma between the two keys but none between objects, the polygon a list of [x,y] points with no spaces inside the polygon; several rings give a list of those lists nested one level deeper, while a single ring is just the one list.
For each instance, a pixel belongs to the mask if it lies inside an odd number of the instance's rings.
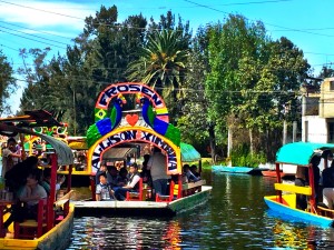
[{"label": "blue and yellow boat with turquoise canopy, cut off at right", "polygon": [[[274,184],[276,196],[266,196],[264,200],[272,211],[292,221],[308,222],[323,227],[333,227],[334,210],[316,203],[314,187],[314,172],[312,158],[322,157],[327,166],[327,152],[334,150],[332,143],[294,142],[283,146],[276,153],[277,182]],[[293,183],[283,183],[279,174],[279,164],[287,163],[306,168],[308,171],[310,186],[299,187]],[[305,210],[296,208],[296,196],[303,194],[307,199]],[[321,196],[318,193],[318,196]],[[321,198],[321,197],[320,197]]]}]

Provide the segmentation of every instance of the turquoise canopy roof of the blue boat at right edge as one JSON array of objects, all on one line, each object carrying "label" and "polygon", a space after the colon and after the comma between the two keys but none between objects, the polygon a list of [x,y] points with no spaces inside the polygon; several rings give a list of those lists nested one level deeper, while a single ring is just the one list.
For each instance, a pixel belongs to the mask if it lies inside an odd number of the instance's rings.
[{"label": "turquoise canopy roof of the blue boat at right edge", "polygon": [[283,146],[276,153],[277,163],[308,166],[314,156],[334,150],[334,143],[293,142]]}]

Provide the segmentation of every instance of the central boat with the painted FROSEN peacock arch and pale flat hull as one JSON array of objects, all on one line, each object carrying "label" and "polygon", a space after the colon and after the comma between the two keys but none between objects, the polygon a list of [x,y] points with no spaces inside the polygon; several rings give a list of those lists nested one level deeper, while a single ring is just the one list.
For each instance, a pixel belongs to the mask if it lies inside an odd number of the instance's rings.
[{"label": "central boat with the painted FROSEN peacock arch and pale flat hull", "polygon": [[[110,104],[110,108],[109,108]],[[98,97],[95,124],[87,131],[87,167],[91,180],[101,162],[127,167],[129,160],[140,164],[146,148],[157,147],[166,156],[166,173],[174,176],[168,196],[154,196],[151,187],[139,181],[138,192],[128,192],[125,201],[95,200],[95,181],[91,199],[73,201],[76,216],[135,214],[173,216],[207,202],[212,187],[205,180],[183,183],[183,163],[198,162],[200,154],[190,144],[180,142],[180,131],[169,123],[169,114],[161,97],[150,87],[137,82],[115,83]],[[131,154],[131,158],[129,158]]]}]

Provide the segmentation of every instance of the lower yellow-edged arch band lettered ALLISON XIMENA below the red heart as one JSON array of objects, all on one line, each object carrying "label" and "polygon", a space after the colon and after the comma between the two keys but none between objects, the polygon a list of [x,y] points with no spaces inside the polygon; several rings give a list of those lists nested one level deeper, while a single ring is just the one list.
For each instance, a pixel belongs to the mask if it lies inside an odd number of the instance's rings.
[{"label": "lower yellow-edged arch band lettered ALLISON XIMENA below the red heart", "polygon": [[96,172],[99,168],[105,151],[126,142],[146,142],[160,148],[166,153],[167,174],[181,173],[180,148],[154,130],[143,127],[119,128],[99,139],[88,151],[91,171]]}]

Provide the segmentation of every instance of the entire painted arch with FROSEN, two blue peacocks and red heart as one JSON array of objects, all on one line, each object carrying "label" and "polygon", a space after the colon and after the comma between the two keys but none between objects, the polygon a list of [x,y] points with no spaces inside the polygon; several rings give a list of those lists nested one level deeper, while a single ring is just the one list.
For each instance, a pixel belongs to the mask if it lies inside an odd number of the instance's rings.
[{"label": "entire painted arch with FROSEN, two blue peacocks and red heart", "polygon": [[[134,110],[124,111],[124,94],[135,94],[141,109],[137,106]],[[94,174],[107,150],[129,142],[144,142],[160,148],[166,153],[167,174],[181,173],[180,132],[169,123],[163,98],[144,83],[115,83],[99,94],[95,107],[95,123],[87,131],[88,169]]]}]

